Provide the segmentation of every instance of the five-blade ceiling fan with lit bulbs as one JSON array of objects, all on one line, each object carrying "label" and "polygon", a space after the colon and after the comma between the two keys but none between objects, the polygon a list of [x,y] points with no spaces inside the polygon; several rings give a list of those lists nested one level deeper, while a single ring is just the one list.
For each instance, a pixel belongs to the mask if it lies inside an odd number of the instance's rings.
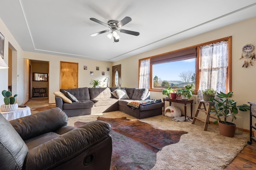
[{"label": "five-blade ceiling fan with lit bulbs", "polygon": [[108,38],[111,39],[113,37],[114,42],[118,42],[120,37],[119,37],[119,35],[117,34],[116,31],[120,31],[121,33],[126,33],[126,34],[130,34],[130,35],[135,35],[135,36],[140,35],[139,32],[130,31],[130,30],[126,30],[126,29],[120,29],[126,23],[129,23],[130,21],[132,21],[132,18],[130,18],[130,17],[125,17],[120,22],[118,22],[116,20],[110,20],[110,21],[108,21],[108,24],[106,24],[106,23],[104,23],[100,20],[97,20],[95,18],[90,18],[90,20],[110,28],[110,29],[107,29],[107,30],[104,30],[104,31],[93,33],[93,34],[91,34],[92,37],[110,31],[110,33],[108,34]]}]

